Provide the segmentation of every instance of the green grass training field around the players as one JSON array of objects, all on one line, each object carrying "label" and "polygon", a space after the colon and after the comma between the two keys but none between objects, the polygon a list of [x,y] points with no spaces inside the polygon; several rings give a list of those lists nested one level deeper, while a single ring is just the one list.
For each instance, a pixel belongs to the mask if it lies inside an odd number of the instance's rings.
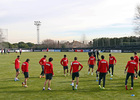
[{"label": "green grass training field around the players", "polygon": [[[43,55],[53,57],[54,74],[52,80],[51,91],[42,91],[45,79],[39,78],[41,72],[41,66],[39,60]],[[78,90],[73,91],[71,87],[71,76],[64,77],[63,67],[60,65],[60,60],[63,55],[66,54],[70,62],[73,61],[75,56],[78,57],[78,61],[84,66],[80,72]],[[105,55],[105,59],[108,61],[108,53],[101,53]],[[21,63],[30,59],[29,63],[29,76],[28,88],[24,88],[21,82],[24,80],[23,74],[19,75],[20,81],[14,81],[15,69],[12,62],[15,60],[18,54],[11,53],[7,55],[0,55],[0,100],[139,100],[140,99],[140,79],[134,80],[134,90],[125,90],[124,82],[126,75],[124,74],[124,68],[130,56],[133,53],[113,53],[117,59],[115,65],[115,72],[113,79],[110,80],[110,75],[106,77],[106,89],[101,90],[96,82],[96,75],[87,75],[87,53],[75,53],[75,52],[32,52],[22,53]],[[95,66],[95,70],[97,66]],[[94,72],[95,72],[94,70]],[[46,85],[47,86],[47,85]],[[47,88],[47,87],[46,87]],[[128,88],[130,88],[130,79],[128,80]],[[131,96],[134,94],[135,96]]]}]

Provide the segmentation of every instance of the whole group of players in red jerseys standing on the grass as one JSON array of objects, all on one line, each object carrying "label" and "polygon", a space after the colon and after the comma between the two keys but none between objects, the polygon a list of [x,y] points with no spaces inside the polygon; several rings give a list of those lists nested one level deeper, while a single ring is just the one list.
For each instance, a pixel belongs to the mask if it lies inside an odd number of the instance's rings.
[{"label": "whole group of players in red jerseys standing on the grass", "polygon": [[[40,59],[39,64],[41,65],[42,71],[40,74],[40,78],[44,78],[46,77],[45,83],[44,83],[44,87],[43,90],[45,90],[45,86],[46,83],[48,82],[48,90],[51,90],[50,85],[51,85],[51,80],[52,77],[54,75],[53,73],[53,58],[49,58],[48,62],[46,61],[46,55],[44,55],[43,58]],[[93,54],[91,54],[91,56],[88,59],[88,65],[89,65],[89,69],[88,69],[88,75],[90,74],[90,68],[92,68],[92,72],[91,75],[93,75],[93,69],[94,66],[96,65],[96,60],[97,60],[97,65],[98,65],[98,69],[96,71],[96,78],[98,79],[98,74],[99,74],[99,88],[101,89],[105,89],[105,78],[106,78],[106,74],[107,72],[109,72],[109,74],[111,75],[111,77],[113,77],[113,72],[114,72],[114,65],[116,64],[117,60],[114,56],[112,56],[112,54],[109,54],[109,64],[108,62],[104,59],[104,55],[101,56],[101,60],[100,59],[96,59]],[[18,81],[18,75],[20,73],[19,71],[19,65],[20,65],[20,56],[17,56],[17,59],[15,60],[15,69],[16,69],[16,77],[15,77],[15,81]],[[79,63],[77,61],[77,57],[74,57],[74,61],[71,63],[71,68],[70,68],[70,75],[72,72],[72,89],[73,90],[77,90],[78,87],[78,83],[79,83],[79,72],[82,70],[83,65],[81,63]],[[126,90],[128,90],[127,88],[127,80],[129,78],[129,76],[131,76],[131,88],[130,90],[133,89],[133,79],[135,76],[135,79],[137,79],[137,71],[138,71],[138,62],[139,62],[139,58],[137,56],[137,53],[134,53],[134,57],[130,58],[131,60],[128,61],[126,68],[125,68],[125,72],[127,70],[127,75],[126,75],[126,80],[125,80],[125,88]],[[21,66],[21,70],[22,73],[25,76],[25,81],[22,82],[22,85],[25,87],[27,86],[27,79],[29,78],[29,73],[28,73],[28,63],[29,63],[29,59],[27,59],[24,63],[22,63]],[[64,58],[61,59],[60,64],[63,66],[64,69],[64,76],[66,77],[66,75],[68,75],[68,59],[67,56],[64,55]],[[79,66],[81,67],[79,69]],[[110,69],[112,69],[112,73],[110,71]],[[65,72],[65,70],[67,70],[67,72]],[[134,72],[136,73],[134,75]],[[74,80],[76,78],[76,86],[74,88]],[[101,87],[101,81],[103,80],[103,87]]]}]

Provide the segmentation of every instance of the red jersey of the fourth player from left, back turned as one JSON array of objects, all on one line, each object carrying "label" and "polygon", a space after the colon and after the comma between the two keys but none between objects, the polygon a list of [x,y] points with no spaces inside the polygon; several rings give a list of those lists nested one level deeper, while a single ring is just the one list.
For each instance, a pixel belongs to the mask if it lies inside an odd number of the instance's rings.
[{"label": "red jersey of the fourth player from left, back turned", "polygon": [[44,73],[45,74],[53,74],[53,64],[51,62],[45,62],[44,64]]}]

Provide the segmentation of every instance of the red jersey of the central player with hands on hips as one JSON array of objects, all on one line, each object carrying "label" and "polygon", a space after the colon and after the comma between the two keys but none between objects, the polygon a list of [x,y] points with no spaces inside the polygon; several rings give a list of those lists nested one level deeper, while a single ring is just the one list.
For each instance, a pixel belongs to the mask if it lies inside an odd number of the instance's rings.
[{"label": "red jersey of the central player with hands on hips", "polygon": [[70,73],[72,71],[72,73],[75,73],[75,72],[79,72],[79,66],[81,66],[80,70],[83,68],[83,65],[80,64],[78,61],[73,61],[71,63],[71,68],[70,68]]}]

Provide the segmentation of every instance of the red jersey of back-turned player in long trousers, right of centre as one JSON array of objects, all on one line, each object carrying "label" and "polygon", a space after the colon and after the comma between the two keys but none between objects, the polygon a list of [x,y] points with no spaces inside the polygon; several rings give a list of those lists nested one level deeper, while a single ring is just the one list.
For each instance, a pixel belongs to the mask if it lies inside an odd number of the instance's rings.
[{"label": "red jersey of back-turned player in long trousers, right of centre", "polygon": [[108,62],[104,59],[99,61],[98,70],[100,73],[106,73],[109,70]]}]

